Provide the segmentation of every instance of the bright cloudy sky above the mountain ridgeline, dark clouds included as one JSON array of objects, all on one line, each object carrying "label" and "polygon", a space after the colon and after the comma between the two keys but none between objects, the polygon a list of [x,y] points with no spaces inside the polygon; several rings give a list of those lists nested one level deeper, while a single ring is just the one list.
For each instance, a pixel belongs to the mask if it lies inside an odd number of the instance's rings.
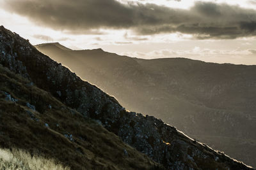
[{"label": "bright cloudy sky above the mountain ridgeline, dark clouds included", "polygon": [[0,0],[0,22],[33,45],[256,64],[256,0]]}]

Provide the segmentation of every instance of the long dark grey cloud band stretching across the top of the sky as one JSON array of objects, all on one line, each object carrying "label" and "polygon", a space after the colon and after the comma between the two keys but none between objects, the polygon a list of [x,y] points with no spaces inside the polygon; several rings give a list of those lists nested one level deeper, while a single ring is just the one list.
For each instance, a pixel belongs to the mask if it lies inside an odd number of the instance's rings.
[{"label": "long dark grey cloud band stretching across the top of the sky", "polygon": [[233,39],[256,34],[256,11],[197,2],[189,10],[115,0],[5,0],[4,7],[34,22],[67,32],[132,29],[138,34],[182,32],[198,39]]}]

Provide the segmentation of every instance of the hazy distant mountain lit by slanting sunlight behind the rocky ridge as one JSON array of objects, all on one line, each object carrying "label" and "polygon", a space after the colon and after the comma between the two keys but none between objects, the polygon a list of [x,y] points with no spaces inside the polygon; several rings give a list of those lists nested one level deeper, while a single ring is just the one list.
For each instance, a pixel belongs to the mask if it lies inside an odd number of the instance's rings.
[{"label": "hazy distant mountain lit by slanting sunlight behind the rocky ridge", "polygon": [[83,80],[189,136],[256,166],[256,66],[190,59],[136,59],[95,50],[36,46]]}]

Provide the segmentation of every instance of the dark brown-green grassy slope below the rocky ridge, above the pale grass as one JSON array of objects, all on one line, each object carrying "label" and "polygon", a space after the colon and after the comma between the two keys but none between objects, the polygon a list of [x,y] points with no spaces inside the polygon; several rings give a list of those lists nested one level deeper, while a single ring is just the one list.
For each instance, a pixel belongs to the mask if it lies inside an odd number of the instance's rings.
[{"label": "dark brown-green grassy slope below the rocky ridge, above the pale grass", "polygon": [[[6,99],[6,92],[18,101]],[[51,108],[44,108],[48,104]],[[72,139],[65,134],[72,134]],[[101,125],[1,66],[0,146],[45,155],[72,169],[150,169],[155,164]]]}]

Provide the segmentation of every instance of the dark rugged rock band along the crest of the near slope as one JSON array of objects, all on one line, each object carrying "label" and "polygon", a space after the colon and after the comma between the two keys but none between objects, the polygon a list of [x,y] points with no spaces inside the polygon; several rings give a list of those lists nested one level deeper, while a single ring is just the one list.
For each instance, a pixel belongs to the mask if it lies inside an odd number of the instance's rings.
[{"label": "dark rugged rock band along the crest of the near slope", "polygon": [[[0,52],[0,64],[29,78],[84,117],[99,120],[106,129],[166,169],[250,169],[193,141],[161,120],[125,111],[115,98],[82,81],[4,27],[0,28]],[[45,108],[40,111],[44,113]]]}]

